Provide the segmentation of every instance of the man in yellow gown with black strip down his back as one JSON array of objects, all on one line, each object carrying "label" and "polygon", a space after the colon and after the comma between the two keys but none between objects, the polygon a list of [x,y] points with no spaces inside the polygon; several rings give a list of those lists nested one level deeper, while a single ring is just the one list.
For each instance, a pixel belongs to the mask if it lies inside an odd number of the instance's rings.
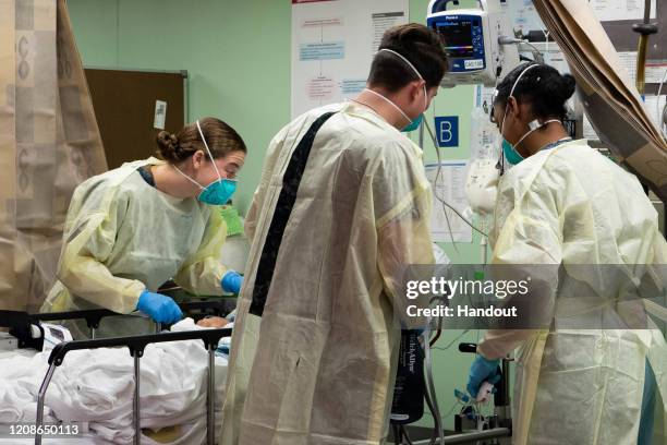
[{"label": "man in yellow gown with black strip down his back", "polygon": [[432,264],[432,193],[416,128],[444,76],[438,35],[386,32],[367,87],[272,140],[246,219],[223,445],[379,444],[387,433],[401,277]]}]

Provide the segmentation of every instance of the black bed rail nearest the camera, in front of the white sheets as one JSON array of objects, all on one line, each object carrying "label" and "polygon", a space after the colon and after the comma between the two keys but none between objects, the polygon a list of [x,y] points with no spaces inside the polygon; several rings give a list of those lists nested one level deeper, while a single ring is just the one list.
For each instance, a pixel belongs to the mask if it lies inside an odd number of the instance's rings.
[{"label": "black bed rail nearest the camera, in front of the white sheets", "polygon": [[141,376],[141,358],[144,354],[146,346],[158,342],[169,341],[183,341],[183,340],[203,340],[206,350],[208,351],[208,394],[207,394],[207,418],[206,418],[206,437],[207,444],[215,444],[215,350],[218,347],[218,342],[222,337],[231,336],[232,329],[219,328],[219,329],[201,329],[201,330],[185,330],[177,333],[159,333],[150,335],[140,336],[128,336],[128,337],[112,337],[112,338],[100,338],[92,340],[74,340],[64,341],[56,345],[51,354],[49,356],[49,369],[46,376],[39,387],[37,395],[37,421],[35,434],[35,444],[41,444],[41,434],[39,431],[43,430],[44,424],[44,404],[46,398],[46,392],[49,383],[56,372],[56,368],[60,366],[64,361],[68,352],[83,349],[98,349],[98,348],[114,348],[114,347],[126,347],[130,350],[130,354],[134,359],[134,401],[133,401],[133,425],[134,425],[134,444],[141,443],[142,428],[141,428],[141,404],[140,404],[140,376]]}]

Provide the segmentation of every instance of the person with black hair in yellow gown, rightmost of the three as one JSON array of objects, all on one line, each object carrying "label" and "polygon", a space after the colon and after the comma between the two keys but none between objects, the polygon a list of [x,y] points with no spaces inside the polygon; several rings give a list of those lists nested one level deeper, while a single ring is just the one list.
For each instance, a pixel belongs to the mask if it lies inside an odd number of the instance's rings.
[{"label": "person with black hair in yellow gown, rightmost of the three", "polygon": [[553,308],[553,318],[544,330],[488,330],[468,390],[497,381],[498,360],[518,348],[514,444],[647,444],[653,411],[642,405],[656,388],[666,399],[667,357],[651,322],[627,323],[645,313],[629,285],[659,292],[667,243],[636,177],[569,137],[562,120],[573,93],[571,75],[538,63],[497,87],[505,173],[492,264],[550,277],[554,299],[535,304]]}]

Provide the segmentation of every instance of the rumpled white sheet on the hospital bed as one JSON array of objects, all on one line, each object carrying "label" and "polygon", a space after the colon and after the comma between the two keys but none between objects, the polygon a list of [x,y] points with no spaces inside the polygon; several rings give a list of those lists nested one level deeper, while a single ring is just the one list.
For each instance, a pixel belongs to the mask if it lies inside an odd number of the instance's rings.
[{"label": "rumpled white sheet on the hospital bed", "polygon": [[[173,330],[187,330],[186,318]],[[35,419],[39,385],[48,353],[0,353],[0,422]],[[126,348],[68,353],[56,369],[46,397],[47,422],[87,422],[92,437],[80,443],[131,443],[134,362]],[[216,357],[216,411],[222,408],[227,360]],[[148,345],[141,360],[142,428],[181,425],[173,445],[203,443],[206,437],[208,354],[201,340]],[[218,428],[216,428],[216,431]],[[0,441],[2,443],[2,441]],[[14,443],[17,443],[16,441]],[[147,437],[142,443],[153,444]]]}]

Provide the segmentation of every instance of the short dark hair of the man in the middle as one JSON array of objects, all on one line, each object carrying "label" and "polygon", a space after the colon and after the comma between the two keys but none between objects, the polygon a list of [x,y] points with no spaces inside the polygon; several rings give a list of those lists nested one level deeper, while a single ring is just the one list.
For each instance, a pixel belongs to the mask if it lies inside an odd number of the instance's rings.
[{"label": "short dark hair of the man in the middle", "polygon": [[[378,49],[383,48],[410,60],[428,88],[438,86],[447,72],[447,55],[441,37],[422,24],[408,23],[387,29]],[[373,59],[368,84],[396,92],[417,79],[416,73],[396,55],[379,51]]]}]

